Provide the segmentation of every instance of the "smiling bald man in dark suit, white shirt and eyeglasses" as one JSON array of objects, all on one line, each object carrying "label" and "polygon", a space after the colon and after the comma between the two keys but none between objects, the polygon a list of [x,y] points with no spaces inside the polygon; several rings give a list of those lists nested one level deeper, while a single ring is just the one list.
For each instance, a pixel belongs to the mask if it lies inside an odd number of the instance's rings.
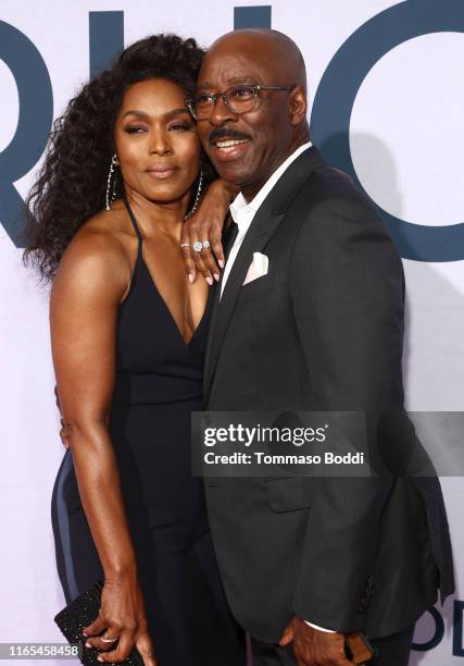
[{"label": "smiling bald man in dark suit, white shirt and eyeglasses", "polygon": [[[240,189],[205,408],[401,411],[401,260],[366,199],[311,145],[298,47],[274,30],[225,35],[189,104],[217,172]],[[376,664],[406,665],[416,619],[437,587],[442,597],[453,590],[436,479],[283,473],[206,479],[206,492],[254,666],[342,666],[344,634],[358,631]]]}]

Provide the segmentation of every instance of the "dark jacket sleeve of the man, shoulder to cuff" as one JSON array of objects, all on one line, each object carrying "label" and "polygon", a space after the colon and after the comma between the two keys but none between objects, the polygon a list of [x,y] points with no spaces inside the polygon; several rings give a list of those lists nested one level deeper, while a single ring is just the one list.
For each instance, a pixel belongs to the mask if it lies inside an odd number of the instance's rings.
[{"label": "dark jacket sleeve of the man, shoulder to cuff", "polygon": [[[373,415],[403,404],[404,280],[384,223],[356,194],[324,200],[302,222],[290,271],[310,409],[356,410],[367,434],[375,432]],[[312,507],[293,610],[322,627],[363,630],[375,589],[379,517],[392,480],[308,483]]]}]

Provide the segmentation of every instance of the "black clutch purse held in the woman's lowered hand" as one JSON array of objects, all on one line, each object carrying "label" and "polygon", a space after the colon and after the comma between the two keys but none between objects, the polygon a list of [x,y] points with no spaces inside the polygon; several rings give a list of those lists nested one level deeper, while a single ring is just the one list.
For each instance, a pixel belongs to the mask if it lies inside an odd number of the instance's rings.
[{"label": "black clutch purse held in the woman's lowered hand", "polygon": [[[95,648],[86,648],[86,637],[83,634],[85,627],[88,627],[97,619],[101,604],[101,591],[103,582],[98,580],[93,585],[79,594],[68,606],[60,610],[54,617],[54,621],[60,627],[64,638],[70,643],[79,643],[83,646],[80,662],[85,666],[101,666],[97,659],[101,654]],[[143,659],[137,648],[133,648],[129,656],[124,662],[118,662],[122,666],[143,666]]]}]

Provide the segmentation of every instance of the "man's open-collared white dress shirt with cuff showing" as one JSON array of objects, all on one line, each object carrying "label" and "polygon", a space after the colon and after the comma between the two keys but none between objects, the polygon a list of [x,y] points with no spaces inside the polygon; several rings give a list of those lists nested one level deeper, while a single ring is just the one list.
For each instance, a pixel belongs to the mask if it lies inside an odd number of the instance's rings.
[{"label": "man's open-collared white dress shirt with cuff showing", "polygon": [[[287,171],[290,164],[302,152],[304,152],[304,150],[306,150],[311,146],[312,146],[312,143],[308,141],[306,144],[303,144],[302,146],[297,148],[297,150],[294,150],[294,152],[292,152],[285,160],[285,162],[283,162],[280,166],[276,169],[276,171],[274,171],[272,176],[266,181],[266,183],[263,185],[263,187],[260,189],[256,196],[249,203],[247,203],[247,200],[241,193],[230,203],[230,213],[231,213],[234,222],[236,222],[238,226],[238,233],[237,233],[236,239],[234,240],[234,245],[230,248],[230,252],[227,258],[227,263],[224,268],[223,282],[221,284],[221,296],[223,295],[225,284],[229,276],[231,267],[234,266],[234,261],[236,260],[237,255],[240,250],[241,244],[243,243],[243,238],[247,235],[247,232],[250,229],[251,223],[253,222],[254,215],[256,214],[258,209],[260,208],[261,203],[264,201],[264,199],[267,197],[269,192],[273,189],[274,185],[277,183],[280,176],[284,175],[284,173]],[[317,625],[313,625],[312,622],[309,622],[308,620],[304,620],[304,621],[308,625],[310,625],[310,627],[313,627],[313,629],[318,629],[319,631],[327,631],[328,633],[334,632],[331,629],[325,629],[324,627],[318,627]]]}]

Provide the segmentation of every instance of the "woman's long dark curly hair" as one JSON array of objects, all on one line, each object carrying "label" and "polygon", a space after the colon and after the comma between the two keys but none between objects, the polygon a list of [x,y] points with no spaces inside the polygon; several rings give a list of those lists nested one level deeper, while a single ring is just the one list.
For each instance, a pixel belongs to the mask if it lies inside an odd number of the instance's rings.
[{"label": "woman's long dark curly hair", "polygon": [[[105,206],[115,152],[114,124],[126,89],[165,78],[189,95],[204,55],[195,39],[154,35],[125,49],[113,66],[86,84],[53,123],[50,144],[26,200],[24,260],[47,281],[77,230]],[[117,178],[116,196],[122,196]]]}]

